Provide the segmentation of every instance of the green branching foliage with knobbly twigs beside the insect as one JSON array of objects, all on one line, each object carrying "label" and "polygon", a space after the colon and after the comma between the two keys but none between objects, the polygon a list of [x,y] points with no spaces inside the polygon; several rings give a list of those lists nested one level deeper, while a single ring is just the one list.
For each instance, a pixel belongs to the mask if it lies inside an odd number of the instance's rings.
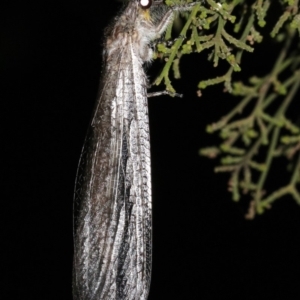
[{"label": "green branching foliage with knobbly twigs beside the insect", "polygon": [[[167,4],[190,2],[169,0]],[[242,72],[244,52],[252,53],[255,46],[263,42],[266,33],[260,31],[272,22],[268,13],[273,5],[282,7],[279,10],[282,14],[278,14],[271,26],[273,29],[268,32],[274,43],[281,45],[273,68],[266,70],[262,77],[249,78],[248,83],[233,81],[233,74]],[[171,93],[175,93],[175,89],[169,72],[173,70],[174,77],[180,77],[179,62],[183,55],[209,50],[213,67],[218,67],[220,60],[227,62],[225,74],[199,82],[198,94],[222,83],[225,92],[239,102],[219,121],[207,126],[208,133],[219,132],[219,145],[201,149],[199,153],[220,158],[220,166],[215,172],[230,173],[228,190],[234,201],[239,201],[241,194],[250,195],[247,219],[263,213],[285,195],[291,195],[300,204],[300,128],[287,114],[292,101],[298,101],[296,95],[300,86],[300,52],[296,49],[299,48],[300,34],[298,7],[299,0],[197,2],[189,13],[182,14],[186,22],[175,43],[171,47],[159,44],[157,48],[156,55],[164,57],[166,64],[155,84],[163,82]],[[166,33],[166,40],[170,37],[171,28]],[[251,108],[249,114],[243,113],[245,107]],[[266,191],[268,175],[278,157],[291,162],[292,167],[287,170],[290,171],[288,183],[277,190]]]}]

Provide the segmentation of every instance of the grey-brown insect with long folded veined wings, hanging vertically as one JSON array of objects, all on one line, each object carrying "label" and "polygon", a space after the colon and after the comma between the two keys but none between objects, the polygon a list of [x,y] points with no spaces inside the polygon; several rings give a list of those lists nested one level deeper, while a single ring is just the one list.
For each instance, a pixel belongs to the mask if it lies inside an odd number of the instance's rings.
[{"label": "grey-brown insect with long folded veined wings, hanging vertically", "polygon": [[144,300],[152,212],[147,77],[150,42],[172,22],[162,1],[129,0],[106,30],[100,93],[82,150],[74,200],[76,300]]}]

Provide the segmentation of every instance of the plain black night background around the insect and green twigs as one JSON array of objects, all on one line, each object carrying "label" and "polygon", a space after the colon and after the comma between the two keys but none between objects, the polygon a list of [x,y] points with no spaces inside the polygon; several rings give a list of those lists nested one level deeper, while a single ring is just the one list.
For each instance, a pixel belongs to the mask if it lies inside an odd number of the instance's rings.
[{"label": "plain black night background around the insect and green twigs", "polygon": [[[1,299],[72,299],[72,198],[98,89],[103,28],[114,1],[2,1]],[[266,51],[267,49],[267,51]],[[272,64],[273,45],[257,50]],[[228,175],[198,156],[205,126],[233,101],[196,97],[206,55],[183,59],[183,99],[149,100],[153,167],[151,299],[297,299],[300,208],[278,201],[254,221],[226,192]],[[248,61],[247,61],[248,57]],[[249,63],[250,62],[250,63]],[[245,73],[255,71],[245,56]],[[154,69],[159,69],[156,65]],[[150,74],[155,73],[152,69]],[[274,174],[276,178],[281,174]]]}]

